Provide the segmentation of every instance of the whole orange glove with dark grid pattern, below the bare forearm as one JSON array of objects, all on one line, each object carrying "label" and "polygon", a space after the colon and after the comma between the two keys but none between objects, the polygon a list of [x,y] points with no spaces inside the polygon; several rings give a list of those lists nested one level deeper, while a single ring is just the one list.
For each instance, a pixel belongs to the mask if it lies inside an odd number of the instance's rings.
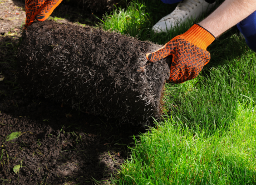
[{"label": "whole orange glove with dark grid pattern, below the bare forearm", "polygon": [[155,62],[173,55],[169,80],[184,83],[196,78],[203,66],[210,61],[210,53],[206,48],[214,40],[213,34],[199,24],[194,24],[187,32],[174,37],[156,52],[147,53],[146,58]]}]

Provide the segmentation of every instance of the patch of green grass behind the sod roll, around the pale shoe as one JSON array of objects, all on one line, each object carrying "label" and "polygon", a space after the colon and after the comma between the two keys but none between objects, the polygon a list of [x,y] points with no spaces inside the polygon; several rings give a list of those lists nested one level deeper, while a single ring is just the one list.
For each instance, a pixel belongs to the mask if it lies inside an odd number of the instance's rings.
[{"label": "patch of green grass behind the sod roll, around the pale shoe", "polygon": [[[184,33],[194,24],[194,20],[188,20],[167,34],[155,34],[152,32],[152,26],[162,17],[171,13],[177,4],[164,4],[156,0],[134,0],[128,4],[127,8],[119,7],[110,14],[106,13],[98,26],[105,30],[115,30],[140,40],[150,40],[154,43],[165,44],[176,35]],[[200,19],[205,16],[203,15]]]}]

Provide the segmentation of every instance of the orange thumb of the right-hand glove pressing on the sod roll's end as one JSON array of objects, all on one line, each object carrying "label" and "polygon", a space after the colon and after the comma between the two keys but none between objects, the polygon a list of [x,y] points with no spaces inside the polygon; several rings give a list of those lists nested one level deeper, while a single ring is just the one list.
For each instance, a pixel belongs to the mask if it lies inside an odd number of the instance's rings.
[{"label": "orange thumb of the right-hand glove pressing on the sod roll's end", "polygon": [[156,50],[155,52],[147,53],[146,58],[147,58],[147,60],[152,61],[152,62],[163,59],[172,53],[173,47],[174,47],[174,42],[173,42],[173,40],[170,40],[162,48]]}]

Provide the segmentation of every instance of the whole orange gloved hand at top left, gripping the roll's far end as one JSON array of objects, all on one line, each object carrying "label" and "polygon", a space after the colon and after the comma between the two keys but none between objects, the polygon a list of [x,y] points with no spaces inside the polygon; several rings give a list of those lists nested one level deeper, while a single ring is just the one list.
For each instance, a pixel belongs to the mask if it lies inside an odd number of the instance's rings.
[{"label": "whole orange gloved hand at top left, gripping the roll's far end", "polygon": [[53,10],[62,2],[62,0],[26,0],[26,24],[25,29],[37,19],[38,21],[46,20]]}]

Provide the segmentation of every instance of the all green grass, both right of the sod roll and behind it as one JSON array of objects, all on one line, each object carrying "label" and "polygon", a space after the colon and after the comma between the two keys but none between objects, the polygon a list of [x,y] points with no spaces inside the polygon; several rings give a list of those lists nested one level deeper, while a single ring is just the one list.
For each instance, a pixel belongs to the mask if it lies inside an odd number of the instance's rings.
[{"label": "all green grass, both right of the sod roll and behind it", "polygon": [[[165,44],[194,22],[153,33],[152,25],[175,6],[136,0],[100,26]],[[196,79],[166,84],[164,121],[135,138],[116,184],[256,184],[255,53],[235,27],[208,51],[211,60]]]}]

